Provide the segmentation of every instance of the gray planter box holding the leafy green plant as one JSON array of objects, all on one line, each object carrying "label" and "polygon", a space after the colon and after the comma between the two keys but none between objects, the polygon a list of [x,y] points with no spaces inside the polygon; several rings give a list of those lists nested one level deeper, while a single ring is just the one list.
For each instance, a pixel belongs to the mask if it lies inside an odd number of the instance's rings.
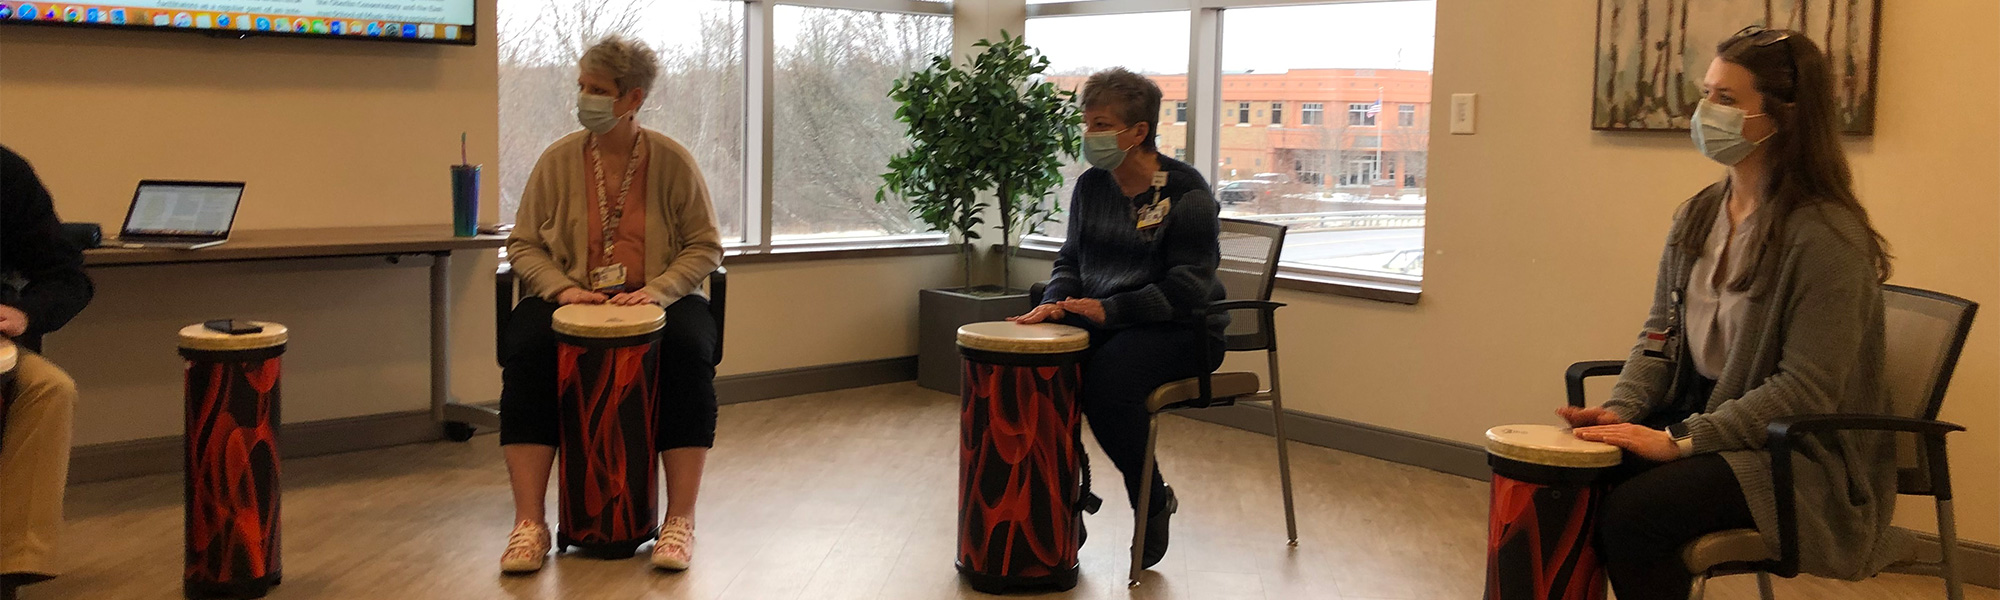
[{"label": "gray planter box holding the leafy green plant", "polygon": [[1034,308],[1028,292],[974,296],[960,290],[922,290],[916,302],[916,384],[958,394],[958,328],[1006,320]]}]

